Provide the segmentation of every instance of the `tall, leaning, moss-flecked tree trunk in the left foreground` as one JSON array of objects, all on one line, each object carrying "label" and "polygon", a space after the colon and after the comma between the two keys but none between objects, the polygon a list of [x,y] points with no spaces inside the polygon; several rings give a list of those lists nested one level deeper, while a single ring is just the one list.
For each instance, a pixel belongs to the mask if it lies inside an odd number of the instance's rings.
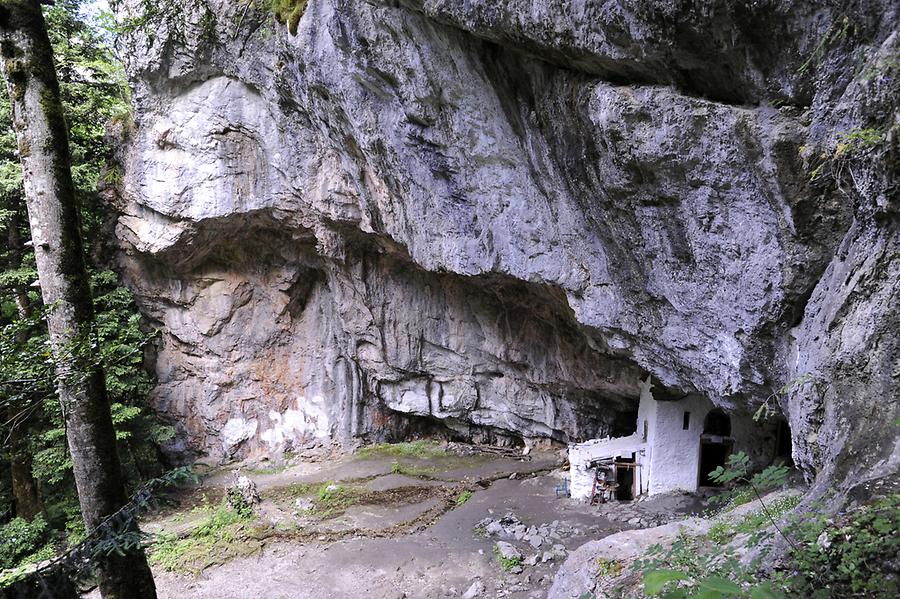
[{"label": "tall, leaning, moss-flecked tree trunk in the left foreground", "polygon": [[[88,532],[126,502],[72,185],[68,133],[53,50],[37,0],[0,0],[0,54],[22,161],[41,294],[48,308],[60,404]],[[107,599],[155,598],[143,551],[100,565]]]}]

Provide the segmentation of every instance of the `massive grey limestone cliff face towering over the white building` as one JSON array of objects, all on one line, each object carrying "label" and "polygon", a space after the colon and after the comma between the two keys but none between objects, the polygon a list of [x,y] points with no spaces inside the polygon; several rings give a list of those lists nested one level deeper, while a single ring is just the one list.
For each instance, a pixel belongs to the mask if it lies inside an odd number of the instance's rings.
[{"label": "massive grey limestone cliff face towering over the white building", "polygon": [[163,13],[115,235],[173,450],[627,433],[649,374],[896,470],[895,3]]}]

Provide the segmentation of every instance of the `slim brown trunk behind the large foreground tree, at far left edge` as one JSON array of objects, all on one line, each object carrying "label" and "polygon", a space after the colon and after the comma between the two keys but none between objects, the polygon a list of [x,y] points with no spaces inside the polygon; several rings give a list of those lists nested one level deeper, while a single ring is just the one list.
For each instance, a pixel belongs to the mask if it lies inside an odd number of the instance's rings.
[{"label": "slim brown trunk behind the large foreground tree, at far left edge", "polygon": [[[12,269],[22,266],[23,246],[19,235],[19,213],[21,203],[19,198],[13,200],[10,207],[12,218],[7,232],[7,249],[9,250],[9,267]],[[19,320],[24,321],[31,316],[31,305],[28,301],[28,290],[24,285],[16,285],[13,289],[16,298],[16,309],[19,312]],[[23,326],[17,334],[16,341],[22,345],[28,340],[28,331]],[[44,506],[38,495],[37,483],[31,475],[31,454],[28,451],[27,430],[31,418],[28,416],[30,406],[26,402],[10,403],[8,407],[9,445],[10,445],[10,475],[12,478],[13,497],[16,501],[16,516],[31,520],[43,513]]]}]

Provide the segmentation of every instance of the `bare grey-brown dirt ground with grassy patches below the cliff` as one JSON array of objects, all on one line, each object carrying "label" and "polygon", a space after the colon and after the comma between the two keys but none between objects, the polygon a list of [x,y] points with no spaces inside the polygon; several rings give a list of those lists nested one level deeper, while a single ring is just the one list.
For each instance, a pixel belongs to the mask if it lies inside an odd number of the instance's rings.
[{"label": "bare grey-brown dirt ground with grassy patches below the cliff", "polygon": [[[264,499],[258,513],[268,533],[235,539],[250,543],[248,555],[224,563],[211,559],[194,574],[156,568],[159,596],[437,598],[461,597],[474,585],[479,597],[545,597],[567,551],[630,528],[611,523],[596,508],[557,498],[558,460],[556,454],[528,461],[388,454],[251,474]],[[212,476],[198,492],[215,495],[227,479]],[[350,499],[336,501],[332,511],[318,504],[296,509],[314,503],[308,497],[327,485]],[[524,562],[513,571],[494,555],[500,537],[479,529],[485,519],[506,514],[535,534],[543,525],[545,534],[534,541],[539,547],[527,538],[508,539]],[[173,513],[147,528],[183,535],[196,522],[191,512]]]}]

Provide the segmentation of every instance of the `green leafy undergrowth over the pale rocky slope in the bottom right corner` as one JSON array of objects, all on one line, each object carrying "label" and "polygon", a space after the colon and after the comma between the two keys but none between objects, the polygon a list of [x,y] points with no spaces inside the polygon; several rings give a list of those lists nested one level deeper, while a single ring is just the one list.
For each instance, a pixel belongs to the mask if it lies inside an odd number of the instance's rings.
[{"label": "green leafy undergrowth over the pale rocky slope in the bottom right corner", "polygon": [[[756,496],[782,484],[786,470],[770,467],[749,477],[749,460],[735,454],[715,473],[721,482],[740,481]],[[794,510],[800,496],[771,502],[760,498],[761,509],[737,523],[718,522],[703,537],[679,535],[668,549],[654,545],[632,564],[649,597],[772,599],[804,597],[844,599],[900,595],[900,495],[890,495],[836,518],[813,505],[778,521]],[[726,544],[735,533],[750,533],[749,544],[767,539],[771,525],[790,546],[778,570],[763,572],[759,565],[771,548],[763,546],[750,563],[741,563]],[[709,545],[709,542],[713,545]],[[723,545],[725,545],[723,547]],[[625,597],[624,589],[617,589]],[[633,596],[633,595],[629,595]]]}]

